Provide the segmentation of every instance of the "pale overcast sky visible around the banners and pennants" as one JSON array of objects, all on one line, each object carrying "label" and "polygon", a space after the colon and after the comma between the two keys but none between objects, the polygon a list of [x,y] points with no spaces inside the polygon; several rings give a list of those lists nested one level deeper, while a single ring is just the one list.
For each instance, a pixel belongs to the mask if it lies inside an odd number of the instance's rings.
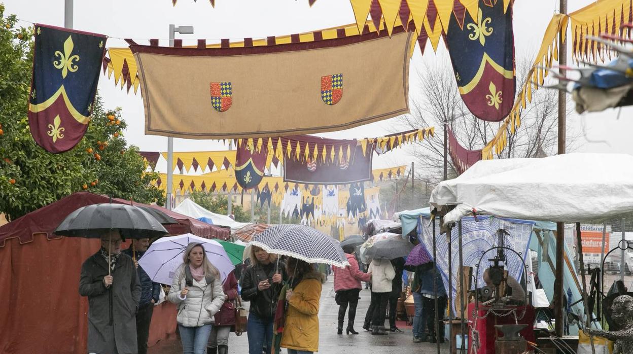
[{"label": "pale overcast sky visible around the banners and pennants", "polygon": [[[3,0],[0,0],[3,1]],[[591,3],[590,0],[573,0],[569,11]],[[4,0],[5,15],[15,14],[21,20],[63,27],[63,0]],[[538,4],[538,5],[537,5]],[[542,34],[551,16],[558,8],[558,0],[538,2],[517,0],[514,5],[514,32],[517,57],[534,54],[541,44]],[[123,47],[121,38],[161,39],[167,45],[168,29],[175,25],[193,25],[194,34],[177,35],[184,44],[194,44],[195,39],[219,40],[223,38],[266,37],[308,32],[321,28],[346,25],[354,22],[354,14],[347,0],[317,0],[311,8],[308,0],[216,0],[215,8],[206,0],[179,0],[172,6],[170,0],[75,0],[74,28],[110,36],[109,47]],[[20,23],[28,25],[28,23]],[[118,37],[118,38],[117,38]],[[139,41],[140,40],[140,41]],[[187,42],[189,40],[189,43]],[[568,45],[569,45],[568,41]],[[427,46],[424,58],[416,48],[411,60],[411,73],[421,67],[423,61],[446,60],[448,56],[440,44],[438,54]],[[415,99],[417,75],[410,75],[410,96]],[[166,151],[167,138],[144,134],[144,111],[140,94],[115,87],[113,79],[102,75],[99,94],[106,108],[120,106],[128,128],[128,143],[145,151]],[[617,110],[591,113],[568,118],[568,124],[584,135],[578,142],[578,151],[633,153],[630,132],[633,122],[630,109],[624,109],[617,119]],[[392,132],[394,119],[368,124],[341,132],[321,134],[327,137],[374,137]],[[603,141],[603,142],[599,142]],[[174,139],[175,151],[206,151],[227,149],[221,142],[206,140]],[[385,154],[374,159],[374,168],[410,163],[406,149]],[[159,165],[159,168],[161,165]],[[161,168],[160,168],[161,169]]]}]

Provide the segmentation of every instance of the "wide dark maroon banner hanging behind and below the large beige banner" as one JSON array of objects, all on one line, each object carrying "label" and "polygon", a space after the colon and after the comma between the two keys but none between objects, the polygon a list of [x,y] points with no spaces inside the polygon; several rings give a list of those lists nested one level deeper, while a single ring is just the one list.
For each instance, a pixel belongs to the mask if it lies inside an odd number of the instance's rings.
[{"label": "wide dark maroon banner hanging behind and below the large beige banner", "polygon": [[363,156],[360,146],[356,146],[347,158],[344,153],[336,154],[331,160],[308,158],[297,161],[284,158],[284,182],[305,184],[349,184],[372,179],[372,153]]}]

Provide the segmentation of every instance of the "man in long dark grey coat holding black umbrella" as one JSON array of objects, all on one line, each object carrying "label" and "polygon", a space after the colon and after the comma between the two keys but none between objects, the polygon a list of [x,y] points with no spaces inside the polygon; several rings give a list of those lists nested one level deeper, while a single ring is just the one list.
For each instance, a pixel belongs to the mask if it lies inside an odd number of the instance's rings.
[{"label": "man in long dark grey coat holding black umbrella", "polygon": [[121,254],[121,242],[118,231],[105,233],[99,251],[85,260],[81,268],[79,294],[88,296],[89,306],[88,353],[137,352],[136,312],[141,284],[132,258]]}]

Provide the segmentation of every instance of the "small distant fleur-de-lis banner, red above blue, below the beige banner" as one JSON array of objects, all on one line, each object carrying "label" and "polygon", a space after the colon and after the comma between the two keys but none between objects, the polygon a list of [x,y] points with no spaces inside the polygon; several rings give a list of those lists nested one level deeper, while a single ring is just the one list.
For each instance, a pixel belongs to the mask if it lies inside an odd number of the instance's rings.
[{"label": "small distant fleur-de-lis banner, red above blue, below the beige banner", "polygon": [[235,154],[235,180],[244,189],[257,187],[264,177],[268,149],[257,142],[258,139],[242,139]]}]

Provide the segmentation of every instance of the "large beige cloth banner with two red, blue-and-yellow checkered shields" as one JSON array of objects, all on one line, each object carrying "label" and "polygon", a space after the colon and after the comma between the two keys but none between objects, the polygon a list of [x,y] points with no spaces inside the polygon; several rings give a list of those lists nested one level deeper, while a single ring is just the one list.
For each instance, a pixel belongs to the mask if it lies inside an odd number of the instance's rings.
[{"label": "large beige cloth banner with two red, blue-and-yellow checkered shields", "polygon": [[[316,39],[320,32],[311,35]],[[407,113],[411,35],[398,27],[391,37],[382,31],[221,48],[128,41],[140,73],[145,133],[286,136]]]}]

